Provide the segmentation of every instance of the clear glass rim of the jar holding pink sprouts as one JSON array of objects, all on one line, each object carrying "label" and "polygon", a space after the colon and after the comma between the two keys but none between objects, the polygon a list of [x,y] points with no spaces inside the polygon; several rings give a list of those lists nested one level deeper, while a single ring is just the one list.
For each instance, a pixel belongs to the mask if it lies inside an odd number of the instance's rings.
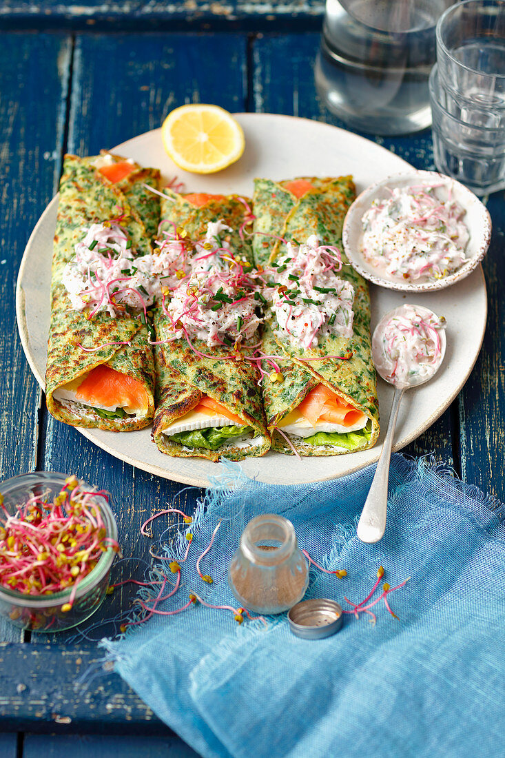
[{"label": "clear glass rim of the jar holding pink sprouts", "polygon": [[[67,478],[68,475],[62,474],[60,471],[29,471],[26,474],[18,474],[17,476],[11,477],[10,479],[5,479],[4,481],[0,482],[0,493],[6,494],[8,492],[11,492],[12,490],[15,490],[17,487],[24,484],[24,482],[30,481],[30,479],[33,479],[33,484],[41,481],[43,482],[44,480],[53,480],[58,483],[61,482],[61,484],[64,484],[64,481]],[[83,479],[78,479],[77,481],[79,481],[79,483],[81,485],[84,485],[86,488],[89,487],[90,492],[93,491],[93,487],[91,487],[91,485],[89,485]],[[99,509],[102,512],[105,531],[107,533],[106,536],[116,542],[118,540],[118,525],[116,523],[114,513],[112,512],[111,507],[108,505],[107,500],[103,495],[98,495],[97,499],[99,502],[97,502],[96,505],[99,506]],[[114,557],[114,550],[112,547],[108,547],[107,550],[102,553],[102,556],[100,556],[96,566],[92,568],[89,574],[87,574],[83,580],[79,582],[79,584],[77,584],[77,589],[75,590],[74,594],[76,600],[80,597],[83,597],[86,592],[88,592],[90,589],[102,581],[102,579],[105,577],[105,575],[107,575],[109,569],[111,568]],[[52,595],[27,595],[21,592],[17,592],[16,590],[9,590],[7,587],[0,587],[0,600],[5,600],[15,606],[36,606],[37,608],[50,608],[52,606],[65,603],[71,596],[74,586],[67,587],[67,589],[62,590],[61,592],[55,592]]]}]

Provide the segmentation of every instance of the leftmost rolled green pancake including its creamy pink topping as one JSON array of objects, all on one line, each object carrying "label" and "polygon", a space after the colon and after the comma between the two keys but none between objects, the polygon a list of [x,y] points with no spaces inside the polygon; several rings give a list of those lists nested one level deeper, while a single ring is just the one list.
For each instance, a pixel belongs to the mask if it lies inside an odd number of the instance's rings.
[{"label": "leftmost rolled green pancake including its creamy pink topping", "polygon": [[45,391],[49,412],[66,424],[130,431],[152,420],[146,307],[160,287],[149,243],[159,201],[143,185],[158,186],[158,177],[108,153],[65,156]]}]

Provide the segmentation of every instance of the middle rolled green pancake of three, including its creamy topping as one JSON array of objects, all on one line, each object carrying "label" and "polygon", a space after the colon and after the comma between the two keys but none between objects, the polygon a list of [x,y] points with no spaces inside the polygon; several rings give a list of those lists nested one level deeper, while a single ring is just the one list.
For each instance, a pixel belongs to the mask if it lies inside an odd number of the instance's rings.
[{"label": "middle rolled green pancake of three, including its creamy topping", "polygon": [[[174,286],[155,309],[156,412],[152,437],[170,456],[241,460],[270,447],[256,362],[259,318],[240,230],[248,204],[237,196],[165,189],[158,245],[183,245]],[[177,250],[176,250],[177,252]],[[177,257],[177,256],[176,256]]]}]

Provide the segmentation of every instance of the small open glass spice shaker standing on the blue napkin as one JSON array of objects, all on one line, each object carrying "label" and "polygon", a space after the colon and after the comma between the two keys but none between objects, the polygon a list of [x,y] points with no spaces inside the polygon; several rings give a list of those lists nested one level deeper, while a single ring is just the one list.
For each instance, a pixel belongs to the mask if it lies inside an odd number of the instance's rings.
[{"label": "small open glass spice shaker standing on the blue napkin", "polygon": [[257,613],[281,613],[302,599],[309,565],[287,518],[271,513],[252,518],[231,559],[228,584],[237,600]]}]

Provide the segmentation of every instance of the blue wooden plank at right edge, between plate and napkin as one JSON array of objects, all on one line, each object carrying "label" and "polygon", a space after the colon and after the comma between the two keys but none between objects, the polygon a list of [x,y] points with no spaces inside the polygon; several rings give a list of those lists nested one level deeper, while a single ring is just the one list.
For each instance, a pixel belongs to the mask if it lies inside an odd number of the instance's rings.
[{"label": "blue wooden plank at right edge, between plate and napkin", "polygon": [[460,394],[461,461],[465,481],[505,499],[505,203],[503,192],[489,198],[493,233],[483,263],[488,287],[488,326],[481,355]]}]

